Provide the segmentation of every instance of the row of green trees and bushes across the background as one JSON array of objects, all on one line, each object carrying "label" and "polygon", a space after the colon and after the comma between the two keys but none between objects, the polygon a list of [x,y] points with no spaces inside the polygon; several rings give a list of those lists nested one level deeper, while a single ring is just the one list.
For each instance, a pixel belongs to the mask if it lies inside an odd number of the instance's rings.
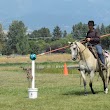
[{"label": "row of green trees and bushes across the background", "polygon": [[[110,33],[110,25],[103,23],[96,26],[100,35]],[[59,26],[55,26],[53,32],[46,27],[27,32],[28,28],[22,21],[12,21],[9,25],[8,33],[4,33],[2,24],[0,24],[0,53],[3,55],[30,53],[42,53],[59,47],[68,45],[68,41],[84,39],[88,31],[87,24],[82,22],[72,26],[71,33],[62,31]],[[110,37],[102,39],[102,46],[110,49]],[[69,49],[57,51],[57,53],[69,52]]]}]

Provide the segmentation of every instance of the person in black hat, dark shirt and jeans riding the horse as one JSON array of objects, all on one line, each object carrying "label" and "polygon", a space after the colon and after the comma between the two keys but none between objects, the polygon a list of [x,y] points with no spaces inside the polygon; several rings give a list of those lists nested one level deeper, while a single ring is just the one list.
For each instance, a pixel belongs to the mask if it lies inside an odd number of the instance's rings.
[{"label": "person in black hat, dark shirt and jeans riding the horse", "polygon": [[87,32],[86,42],[88,42],[89,45],[91,45],[91,46],[95,46],[98,56],[102,62],[102,69],[106,69],[105,59],[104,59],[102,47],[100,44],[100,36],[99,36],[98,32],[96,31],[96,29],[94,28],[94,26],[95,26],[94,21],[88,22],[89,31]]}]

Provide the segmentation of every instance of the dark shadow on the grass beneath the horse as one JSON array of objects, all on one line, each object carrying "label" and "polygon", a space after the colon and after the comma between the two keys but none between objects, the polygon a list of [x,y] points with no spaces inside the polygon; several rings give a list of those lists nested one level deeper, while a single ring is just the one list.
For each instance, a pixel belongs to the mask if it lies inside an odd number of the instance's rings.
[{"label": "dark shadow on the grass beneath the horse", "polygon": [[[98,94],[100,92],[103,92],[103,91],[95,91],[95,94]],[[87,95],[89,95],[89,94],[92,95],[92,92],[91,91],[87,91]],[[64,93],[62,95],[77,95],[77,96],[80,96],[80,95],[84,95],[84,91],[68,91],[67,93]]]}]

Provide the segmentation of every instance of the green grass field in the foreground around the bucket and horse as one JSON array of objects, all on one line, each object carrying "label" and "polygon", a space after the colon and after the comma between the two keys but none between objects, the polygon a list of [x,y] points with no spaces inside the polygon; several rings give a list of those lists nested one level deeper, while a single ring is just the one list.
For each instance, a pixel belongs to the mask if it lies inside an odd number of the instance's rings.
[{"label": "green grass field in the foreground around the bucket and horse", "polygon": [[[19,68],[23,61],[20,62],[21,64],[17,62],[16,59],[16,64],[3,62],[0,65],[0,110],[110,109],[110,92],[104,94],[101,79],[97,81],[98,77],[95,76],[93,87],[96,94],[93,95],[87,85],[88,95],[84,96],[83,84],[80,85],[80,74],[76,70],[68,76],[64,76],[62,72],[52,74],[36,70],[38,98],[29,99],[26,73]],[[22,64],[22,66],[29,66],[29,64]]]}]

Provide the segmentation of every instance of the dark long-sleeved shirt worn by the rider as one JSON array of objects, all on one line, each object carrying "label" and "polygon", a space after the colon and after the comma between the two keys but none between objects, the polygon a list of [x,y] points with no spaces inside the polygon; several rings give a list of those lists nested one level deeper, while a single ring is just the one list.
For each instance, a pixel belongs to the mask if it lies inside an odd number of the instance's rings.
[{"label": "dark long-sleeved shirt worn by the rider", "polygon": [[100,43],[100,37],[98,32],[96,31],[96,29],[93,29],[92,31],[88,31],[87,32],[87,36],[86,38],[91,38],[91,40],[89,41],[90,44],[92,45],[97,45]]}]

